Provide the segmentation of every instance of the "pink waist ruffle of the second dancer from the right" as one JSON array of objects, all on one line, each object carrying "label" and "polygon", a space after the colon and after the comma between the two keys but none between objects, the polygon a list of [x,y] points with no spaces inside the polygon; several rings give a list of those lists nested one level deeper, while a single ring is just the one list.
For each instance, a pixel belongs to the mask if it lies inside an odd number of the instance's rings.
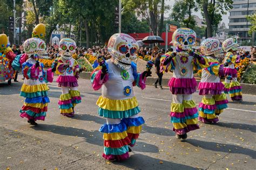
[{"label": "pink waist ruffle of the second dancer from the right", "polygon": [[199,95],[220,95],[224,90],[224,84],[221,82],[211,83],[211,82],[200,82],[199,86]]}]

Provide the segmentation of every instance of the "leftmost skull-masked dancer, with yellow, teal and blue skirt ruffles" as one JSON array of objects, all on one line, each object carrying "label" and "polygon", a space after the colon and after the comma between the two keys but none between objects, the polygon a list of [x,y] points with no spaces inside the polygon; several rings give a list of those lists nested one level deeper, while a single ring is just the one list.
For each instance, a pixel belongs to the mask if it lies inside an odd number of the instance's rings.
[{"label": "leftmost skull-masked dancer, with yellow, teal and blue skirt ruffles", "polygon": [[44,70],[43,63],[38,61],[38,55],[45,53],[45,42],[39,38],[30,38],[24,42],[24,52],[29,59],[22,64],[22,73],[25,77],[21,88],[21,96],[25,103],[19,112],[21,117],[28,118],[28,123],[37,125],[37,120],[44,121],[48,109],[47,82],[52,82],[56,66]]}]

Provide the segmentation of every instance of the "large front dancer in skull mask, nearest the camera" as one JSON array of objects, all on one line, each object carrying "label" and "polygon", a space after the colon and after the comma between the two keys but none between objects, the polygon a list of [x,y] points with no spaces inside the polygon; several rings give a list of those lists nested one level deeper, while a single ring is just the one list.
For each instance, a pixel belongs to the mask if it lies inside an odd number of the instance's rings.
[{"label": "large front dancer in skull mask, nearest the camera", "polygon": [[[106,118],[106,123],[99,129],[103,134],[103,157],[110,161],[129,158],[129,146],[134,146],[144,124],[138,116],[139,104],[133,94],[133,86],[146,87],[145,80],[150,76],[150,69],[137,72],[137,41],[123,33],[113,34],[107,45],[112,59],[100,59],[91,74],[92,87],[102,87],[102,96],[97,101],[99,116]],[[149,67],[152,68],[152,65]]]}]

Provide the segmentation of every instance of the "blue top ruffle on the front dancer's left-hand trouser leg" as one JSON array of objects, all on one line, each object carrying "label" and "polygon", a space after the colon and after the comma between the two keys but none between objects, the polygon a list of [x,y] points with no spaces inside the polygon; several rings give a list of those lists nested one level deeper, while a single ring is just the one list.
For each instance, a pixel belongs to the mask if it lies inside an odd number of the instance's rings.
[{"label": "blue top ruffle on the front dancer's left-hand trouser leg", "polygon": [[99,129],[99,131],[102,133],[117,133],[117,132],[124,132],[126,130],[127,130],[127,126],[126,124],[124,124],[124,122],[120,122],[119,124],[105,123]]}]

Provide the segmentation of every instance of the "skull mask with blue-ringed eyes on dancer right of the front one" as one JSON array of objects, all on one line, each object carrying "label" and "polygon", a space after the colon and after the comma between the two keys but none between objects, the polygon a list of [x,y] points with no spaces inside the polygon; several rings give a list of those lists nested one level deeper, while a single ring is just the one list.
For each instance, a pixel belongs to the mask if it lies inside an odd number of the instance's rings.
[{"label": "skull mask with blue-ringed eyes on dancer right of the front one", "polygon": [[196,45],[197,34],[191,29],[179,28],[172,35],[173,46],[179,47],[184,51]]}]

